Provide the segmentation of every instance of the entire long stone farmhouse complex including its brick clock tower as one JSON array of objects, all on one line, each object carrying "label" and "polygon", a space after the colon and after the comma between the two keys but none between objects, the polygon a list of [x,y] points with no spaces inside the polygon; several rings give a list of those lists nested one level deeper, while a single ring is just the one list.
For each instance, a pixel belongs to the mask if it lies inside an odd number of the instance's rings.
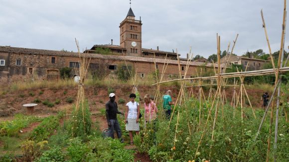
[{"label": "entire long stone farmhouse complex including its brick clock tower", "polygon": [[[137,68],[140,78],[146,78],[155,72],[156,68],[162,71],[165,56],[169,62],[165,71],[164,80],[178,78],[177,54],[142,48],[142,21],[135,20],[132,8],[129,9],[127,17],[120,24],[120,45],[94,45],[86,50],[83,55],[91,57],[89,70],[103,70],[108,73],[115,72],[117,68],[126,69],[125,60],[129,67]],[[98,48],[107,48],[110,54],[97,54]],[[187,61],[180,60],[181,75],[184,78]],[[78,53],[53,51],[42,49],[28,49],[10,46],[0,46],[0,81],[29,81],[33,80],[59,80],[60,69],[64,67],[78,68]],[[217,65],[215,65],[217,67]],[[192,61],[186,78],[196,76],[196,70],[200,68],[203,72],[212,71],[213,65],[206,60]]]}]

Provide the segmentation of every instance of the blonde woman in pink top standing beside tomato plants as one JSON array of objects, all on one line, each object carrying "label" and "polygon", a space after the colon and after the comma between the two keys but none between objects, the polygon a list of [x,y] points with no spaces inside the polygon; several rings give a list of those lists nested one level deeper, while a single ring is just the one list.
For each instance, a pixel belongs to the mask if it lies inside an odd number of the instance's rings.
[{"label": "blonde woman in pink top standing beside tomato plants", "polygon": [[149,95],[144,96],[144,119],[146,122],[150,122],[156,119],[157,107],[155,103],[150,99]]}]

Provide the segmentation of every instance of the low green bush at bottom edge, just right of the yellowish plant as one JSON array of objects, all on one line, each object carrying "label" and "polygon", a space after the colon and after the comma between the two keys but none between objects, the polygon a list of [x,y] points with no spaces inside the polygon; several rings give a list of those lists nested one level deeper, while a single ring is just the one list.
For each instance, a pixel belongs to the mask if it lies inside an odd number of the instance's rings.
[{"label": "low green bush at bottom edge, just right of the yellowish plant", "polygon": [[54,146],[45,151],[35,162],[64,162],[64,155],[60,147]]}]

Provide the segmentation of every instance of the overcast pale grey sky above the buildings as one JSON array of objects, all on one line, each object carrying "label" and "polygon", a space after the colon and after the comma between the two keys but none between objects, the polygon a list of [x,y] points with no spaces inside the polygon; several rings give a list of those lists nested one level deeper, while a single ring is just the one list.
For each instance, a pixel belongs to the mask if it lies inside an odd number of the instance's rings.
[{"label": "overcast pale grey sky above the buildings", "polygon": [[[0,0],[0,46],[77,51],[95,44],[120,44],[119,25],[129,0]],[[263,8],[272,52],[280,49],[283,0],[132,0],[142,19],[142,47],[191,51],[205,58],[239,34],[233,53],[268,53],[260,11]],[[287,47],[289,41],[286,40]],[[285,48],[288,51],[287,48]],[[231,51],[231,50],[229,50]]]}]

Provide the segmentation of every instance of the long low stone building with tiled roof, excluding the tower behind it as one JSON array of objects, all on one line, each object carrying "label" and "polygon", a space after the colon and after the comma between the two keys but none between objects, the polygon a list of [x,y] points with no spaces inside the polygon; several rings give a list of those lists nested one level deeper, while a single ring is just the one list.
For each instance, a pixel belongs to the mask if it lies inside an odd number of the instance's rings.
[{"label": "long low stone building with tiled roof, excluding the tower behind it", "polygon": [[[130,68],[137,68],[140,78],[146,78],[155,72],[154,58],[135,56],[86,54],[91,58],[89,71],[101,70],[115,72],[118,68],[126,68],[125,60]],[[164,80],[179,78],[177,60],[167,60],[168,66],[164,73]],[[165,59],[156,58],[156,68],[162,71]],[[17,48],[0,46],[0,81],[27,81],[27,80],[58,80],[60,69],[64,67],[78,68],[78,53],[65,51],[52,51],[40,49]],[[181,76],[184,72],[187,61],[180,60]],[[217,66],[217,65],[215,65]],[[211,63],[191,62],[186,78],[196,76],[196,70],[212,71]]]}]

